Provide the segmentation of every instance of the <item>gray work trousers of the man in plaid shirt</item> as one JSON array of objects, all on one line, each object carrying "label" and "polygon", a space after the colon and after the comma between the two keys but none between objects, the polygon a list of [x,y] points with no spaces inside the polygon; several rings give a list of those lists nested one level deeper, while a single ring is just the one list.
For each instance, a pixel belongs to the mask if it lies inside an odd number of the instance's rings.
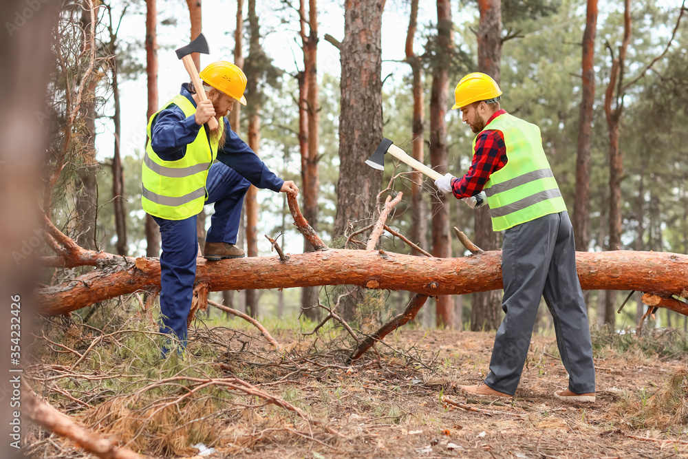
[{"label": "gray work trousers of the man in plaid shirt", "polygon": [[526,363],[540,297],[554,319],[561,361],[576,394],[595,392],[588,313],[576,271],[567,212],[545,215],[504,231],[502,277],[506,317],[497,330],[485,383],[513,395]]}]

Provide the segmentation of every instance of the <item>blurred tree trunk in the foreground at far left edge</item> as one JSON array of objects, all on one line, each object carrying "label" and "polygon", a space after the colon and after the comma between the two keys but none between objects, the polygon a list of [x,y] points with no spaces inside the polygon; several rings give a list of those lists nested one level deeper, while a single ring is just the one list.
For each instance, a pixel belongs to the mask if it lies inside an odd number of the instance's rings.
[{"label": "blurred tree trunk in the foreground at far left edge", "polygon": [[[6,25],[6,33],[0,35],[3,63],[0,73],[3,88],[0,93],[3,107],[0,115],[0,297],[8,314],[8,330],[10,311],[21,313],[25,332],[19,344],[23,348],[28,346],[32,330],[39,269],[34,257],[23,257],[21,250],[30,244],[32,237],[38,239],[41,235],[36,219],[36,192],[43,186],[41,169],[47,160],[47,137],[52,133],[45,127],[37,129],[36,115],[46,111],[45,94],[50,67],[54,64],[51,45],[58,3],[43,4],[21,28],[16,27],[17,12],[26,7],[23,0],[4,1],[0,6],[0,23]],[[0,368],[5,372],[12,368],[9,352],[0,354]],[[11,425],[14,420],[9,398],[6,403],[6,409],[0,410],[3,426]],[[11,445],[14,440],[10,436],[6,438],[9,440],[0,445],[0,457],[23,458],[19,441],[15,448]]]}]

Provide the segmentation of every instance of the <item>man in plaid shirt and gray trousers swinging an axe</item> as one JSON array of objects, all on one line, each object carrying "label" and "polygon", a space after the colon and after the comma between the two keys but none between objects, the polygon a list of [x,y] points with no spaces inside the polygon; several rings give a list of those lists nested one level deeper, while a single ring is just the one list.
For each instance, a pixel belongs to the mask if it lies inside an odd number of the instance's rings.
[{"label": "man in plaid shirt and gray trousers swinging an axe", "polygon": [[456,85],[462,120],[477,134],[473,164],[462,178],[436,180],[471,208],[488,204],[494,231],[504,231],[502,309],[482,383],[461,386],[478,396],[512,397],[526,362],[535,314],[544,297],[552,314],[568,388],[566,401],[595,401],[595,370],[588,313],[576,270],[576,248],[566,203],[542,148],[537,126],[499,106],[502,90],[488,75],[468,74]]}]

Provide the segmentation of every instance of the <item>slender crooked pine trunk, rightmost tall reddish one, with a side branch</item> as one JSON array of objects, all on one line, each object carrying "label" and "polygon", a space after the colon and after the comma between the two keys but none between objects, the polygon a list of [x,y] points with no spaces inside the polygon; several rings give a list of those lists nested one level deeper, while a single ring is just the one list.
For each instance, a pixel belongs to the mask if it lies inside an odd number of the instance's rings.
[{"label": "slender crooked pine trunk, rightmost tall reddish one, with a side branch", "polygon": [[[619,123],[623,113],[623,72],[626,50],[631,39],[630,0],[625,0],[624,5],[623,41],[619,47],[619,56],[612,58],[612,70],[604,102],[609,134],[609,250],[619,250],[621,248],[621,175],[623,175],[623,153],[619,149]],[[616,99],[616,105],[613,110],[612,99]],[[605,301],[605,323],[614,328],[615,320],[616,292],[608,292]]]}]

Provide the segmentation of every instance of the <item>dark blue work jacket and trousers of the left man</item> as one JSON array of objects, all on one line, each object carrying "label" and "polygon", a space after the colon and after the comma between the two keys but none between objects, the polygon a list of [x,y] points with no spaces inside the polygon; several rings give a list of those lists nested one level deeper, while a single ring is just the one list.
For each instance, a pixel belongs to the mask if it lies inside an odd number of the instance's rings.
[{"label": "dark blue work jacket and trousers of the left man", "polygon": [[[186,84],[180,91],[193,106],[196,103]],[[284,181],[272,173],[244,140],[223,118],[226,140],[217,148],[217,160],[208,171],[206,204],[215,203],[211,227],[206,242],[236,244],[241,218],[241,206],[248,187],[277,191]],[[151,125],[151,147],[160,159],[179,160],[186,154],[186,145],[201,129],[195,116],[184,116],[182,109],[170,105],[160,111]],[[160,226],[162,255],[160,255],[160,332],[173,333],[186,348],[186,318],[191,310],[193,284],[196,277],[198,238],[196,215],[185,220],[165,220],[153,217]],[[167,349],[163,349],[166,353]]]}]

